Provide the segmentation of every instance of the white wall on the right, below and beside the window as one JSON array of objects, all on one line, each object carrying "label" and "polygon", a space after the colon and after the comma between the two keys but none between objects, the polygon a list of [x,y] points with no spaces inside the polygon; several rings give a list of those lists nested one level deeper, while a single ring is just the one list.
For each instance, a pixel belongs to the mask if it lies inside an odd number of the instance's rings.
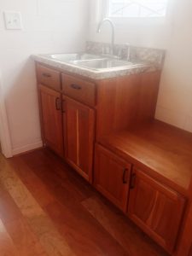
[{"label": "white wall on the right, below and beside the window", "polygon": [[[89,40],[108,42],[110,29],[96,34],[96,1],[90,6]],[[115,25],[117,44],[166,49],[156,118],[192,131],[192,1],[170,0],[164,22],[130,22]]]}]

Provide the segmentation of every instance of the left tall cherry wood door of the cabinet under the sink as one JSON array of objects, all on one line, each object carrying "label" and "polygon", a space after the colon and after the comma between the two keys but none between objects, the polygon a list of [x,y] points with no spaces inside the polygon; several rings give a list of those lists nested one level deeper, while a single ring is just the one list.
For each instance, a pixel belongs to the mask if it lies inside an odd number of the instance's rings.
[{"label": "left tall cherry wood door of the cabinet under the sink", "polygon": [[63,156],[61,94],[42,84],[39,92],[44,143]]}]

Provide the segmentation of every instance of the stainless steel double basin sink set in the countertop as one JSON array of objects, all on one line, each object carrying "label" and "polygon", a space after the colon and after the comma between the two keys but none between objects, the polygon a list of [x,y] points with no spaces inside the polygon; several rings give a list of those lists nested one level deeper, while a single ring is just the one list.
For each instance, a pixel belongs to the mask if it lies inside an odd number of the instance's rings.
[{"label": "stainless steel double basin sink set in the countertop", "polygon": [[84,67],[95,71],[103,71],[108,69],[132,67],[139,65],[129,61],[123,61],[114,56],[91,55],[91,54],[56,54],[49,55],[50,59],[71,64],[76,67]]}]

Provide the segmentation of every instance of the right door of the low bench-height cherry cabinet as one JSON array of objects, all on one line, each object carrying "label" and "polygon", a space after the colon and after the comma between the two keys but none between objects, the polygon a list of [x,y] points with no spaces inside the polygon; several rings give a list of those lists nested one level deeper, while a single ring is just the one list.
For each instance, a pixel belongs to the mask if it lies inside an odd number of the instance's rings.
[{"label": "right door of the low bench-height cherry cabinet", "polygon": [[185,199],[141,171],[132,175],[128,216],[172,253]]}]

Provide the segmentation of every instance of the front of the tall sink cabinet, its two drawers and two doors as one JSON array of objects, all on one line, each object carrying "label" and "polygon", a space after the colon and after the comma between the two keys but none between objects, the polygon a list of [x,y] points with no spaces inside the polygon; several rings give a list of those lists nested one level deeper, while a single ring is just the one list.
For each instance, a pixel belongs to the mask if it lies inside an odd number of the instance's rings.
[{"label": "front of the tall sink cabinet, its two drawers and two doors", "polygon": [[61,74],[41,64],[37,64],[37,79],[44,144],[65,157],[92,183],[95,110],[84,104],[95,106],[96,84]]}]

